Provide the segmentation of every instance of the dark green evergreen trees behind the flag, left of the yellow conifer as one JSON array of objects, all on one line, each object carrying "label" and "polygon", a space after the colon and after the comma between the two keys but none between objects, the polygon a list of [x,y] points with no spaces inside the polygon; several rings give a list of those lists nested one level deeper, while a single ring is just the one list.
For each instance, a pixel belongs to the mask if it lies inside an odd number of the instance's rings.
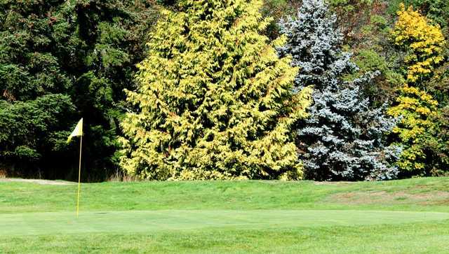
[{"label": "dark green evergreen trees behind the flag, left of the yellow conifer", "polygon": [[109,174],[122,90],[154,15],[144,0],[0,1],[0,167],[73,177],[76,148],[64,141],[83,116],[85,176]]}]

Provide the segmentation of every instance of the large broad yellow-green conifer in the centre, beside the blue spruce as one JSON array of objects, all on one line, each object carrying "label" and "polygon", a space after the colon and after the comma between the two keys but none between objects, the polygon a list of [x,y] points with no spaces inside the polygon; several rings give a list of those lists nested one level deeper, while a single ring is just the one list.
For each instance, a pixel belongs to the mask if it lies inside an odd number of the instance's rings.
[{"label": "large broad yellow-green conifer in the centre, beside the blue spruce", "polygon": [[261,33],[262,1],[182,0],[163,10],[121,123],[121,167],[148,179],[302,176],[293,126],[311,88]]}]

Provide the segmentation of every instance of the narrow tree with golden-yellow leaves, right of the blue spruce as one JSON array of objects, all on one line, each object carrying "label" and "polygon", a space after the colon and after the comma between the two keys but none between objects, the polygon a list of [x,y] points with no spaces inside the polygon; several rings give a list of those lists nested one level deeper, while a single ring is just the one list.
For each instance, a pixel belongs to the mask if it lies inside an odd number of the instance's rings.
[{"label": "narrow tree with golden-yellow leaves, right of the blue spruce", "polygon": [[396,45],[406,50],[407,84],[389,109],[390,115],[400,118],[394,129],[403,146],[398,167],[404,176],[429,176],[445,171],[441,167],[447,164],[440,156],[441,141],[437,139],[438,101],[426,92],[427,80],[443,63],[445,39],[440,27],[430,24],[412,6],[406,8],[401,3],[400,7],[391,34]]}]

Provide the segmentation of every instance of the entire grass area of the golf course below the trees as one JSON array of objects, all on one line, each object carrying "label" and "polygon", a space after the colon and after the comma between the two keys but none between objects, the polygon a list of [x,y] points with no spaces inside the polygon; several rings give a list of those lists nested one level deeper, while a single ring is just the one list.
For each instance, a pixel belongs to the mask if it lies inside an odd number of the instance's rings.
[{"label": "entire grass area of the golf course below the trees", "polygon": [[0,182],[0,253],[449,253],[449,178]]}]

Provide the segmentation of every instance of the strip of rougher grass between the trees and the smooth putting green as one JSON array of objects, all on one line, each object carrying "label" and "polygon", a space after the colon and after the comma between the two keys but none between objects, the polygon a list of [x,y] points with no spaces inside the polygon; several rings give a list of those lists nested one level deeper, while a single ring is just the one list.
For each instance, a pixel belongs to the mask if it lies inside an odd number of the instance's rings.
[{"label": "strip of rougher grass between the trees and the smooth putting green", "polygon": [[[73,211],[76,185],[0,182],[0,213]],[[378,192],[389,194],[373,195]],[[81,211],[158,209],[368,209],[449,212],[449,178],[314,183],[311,181],[198,181],[89,183]],[[351,200],[345,195],[358,195]],[[370,195],[371,194],[371,195]],[[391,200],[391,195],[427,199]]]}]

